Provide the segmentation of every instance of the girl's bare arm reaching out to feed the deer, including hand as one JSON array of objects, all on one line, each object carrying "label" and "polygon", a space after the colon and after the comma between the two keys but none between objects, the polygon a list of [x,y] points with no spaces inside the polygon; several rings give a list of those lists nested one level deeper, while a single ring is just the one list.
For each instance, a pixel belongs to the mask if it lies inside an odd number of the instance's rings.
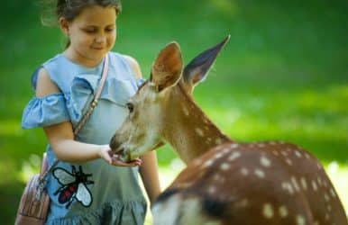
[{"label": "girl's bare arm reaching out to feed the deer, including hand", "polygon": [[[59,93],[59,88],[52,83],[47,71],[41,68],[36,85],[36,96]],[[50,147],[58,159],[67,162],[86,162],[96,158],[103,158],[109,164],[117,166],[139,166],[141,161],[134,160],[126,164],[118,160],[111,153],[108,145],[94,145],[74,140],[72,126],[69,121],[44,127],[43,130],[50,142]]]}]

